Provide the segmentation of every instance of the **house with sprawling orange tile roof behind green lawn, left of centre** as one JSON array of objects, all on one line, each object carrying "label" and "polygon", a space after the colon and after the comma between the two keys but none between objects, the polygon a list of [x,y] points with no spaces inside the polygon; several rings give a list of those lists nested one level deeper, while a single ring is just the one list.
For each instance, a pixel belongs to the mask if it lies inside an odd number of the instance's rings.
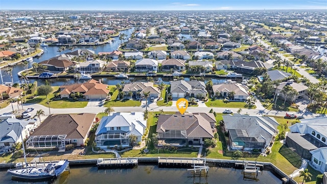
[{"label": "house with sprawling orange tile roof behind green lawn, left of centre", "polygon": [[69,98],[72,93],[83,94],[85,99],[106,99],[109,94],[107,84],[102,84],[94,79],[85,83],[62,85],[59,87],[60,98]]}]

